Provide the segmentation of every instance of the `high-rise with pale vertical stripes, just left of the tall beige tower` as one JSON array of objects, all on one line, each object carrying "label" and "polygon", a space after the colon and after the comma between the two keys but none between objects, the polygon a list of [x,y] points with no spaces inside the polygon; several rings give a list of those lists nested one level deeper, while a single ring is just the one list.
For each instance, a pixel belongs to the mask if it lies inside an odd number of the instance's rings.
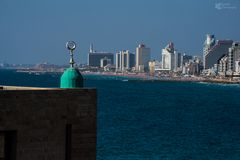
[{"label": "high-rise with pale vertical stripes, just left of the tall beige tower", "polygon": [[116,53],[116,71],[127,71],[135,65],[135,55],[129,50]]}]

